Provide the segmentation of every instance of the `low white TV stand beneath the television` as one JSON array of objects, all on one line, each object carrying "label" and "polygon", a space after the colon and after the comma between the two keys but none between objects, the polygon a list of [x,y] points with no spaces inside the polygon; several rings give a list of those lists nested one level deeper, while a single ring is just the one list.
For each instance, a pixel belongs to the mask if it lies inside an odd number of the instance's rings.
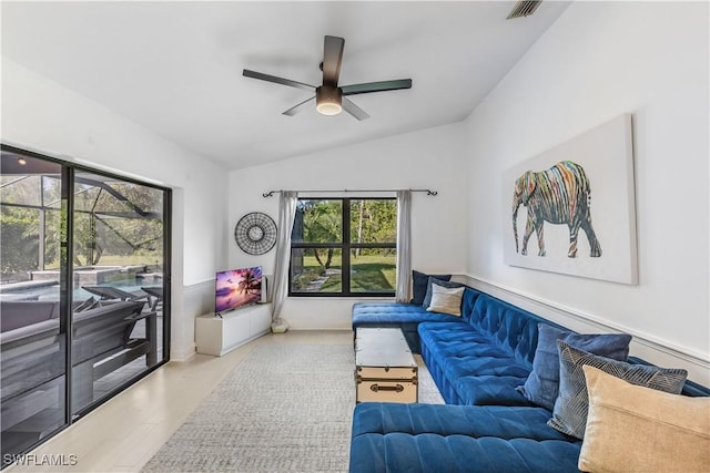
[{"label": "low white TV stand beneath the television", "polygon": [[221,357],[266,333],[271,328],[272,305],[242,307],[222,317],[214,312],[195,318],[197,353]]}]

